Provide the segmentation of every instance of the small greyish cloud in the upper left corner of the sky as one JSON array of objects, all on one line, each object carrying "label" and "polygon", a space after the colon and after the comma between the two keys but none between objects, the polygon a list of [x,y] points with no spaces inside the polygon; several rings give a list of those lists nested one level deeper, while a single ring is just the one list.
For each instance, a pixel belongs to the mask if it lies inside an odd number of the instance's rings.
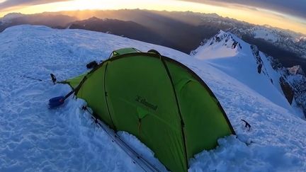
[{"label": "small greyish cloud in the upper left corner of the sky", "polygon": [[6,0],[6,1],[0,0],[0,10],[6,10],[8,8],[16,8],[19,6],[48,4],[48,3],[60,2],[60,1],[71,1],[71,0]]}]

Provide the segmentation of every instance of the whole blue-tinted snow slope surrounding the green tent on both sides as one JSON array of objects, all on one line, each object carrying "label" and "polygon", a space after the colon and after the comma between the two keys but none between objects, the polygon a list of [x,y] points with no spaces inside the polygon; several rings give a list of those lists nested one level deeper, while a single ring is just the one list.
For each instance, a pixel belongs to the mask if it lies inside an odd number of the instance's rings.
[{"label": "whole blue-tinted snow slope surrounding the green tent on both sides", "polygon": [[[227,62],[226,55],[194,58],[115,35],[30,25],[0,33],[0,171],[141,171],[81,110],[84,101],[69,98],[62,108],[47,108],[49,98],[70,91],[69,86],[53,86],[50,73],[60,80],[77,76],[86,71],[87,62],[106,59],[121,47],[155,49],[186,64],[225,108],[237,138],[221,138],[219,147],[197,154],[189,171],[306,171],[305,120],[295,115],[273,84],[270,93],[270,87],[254,86],[251,78],[234,70],[251,65],[243,52],[234,50],[229,55],[233,62]],[[268,86],[261,75],[256,81]],[[241,119],[251,124],[250,131]],[[120,135],[162,166],[135,137]]]}]

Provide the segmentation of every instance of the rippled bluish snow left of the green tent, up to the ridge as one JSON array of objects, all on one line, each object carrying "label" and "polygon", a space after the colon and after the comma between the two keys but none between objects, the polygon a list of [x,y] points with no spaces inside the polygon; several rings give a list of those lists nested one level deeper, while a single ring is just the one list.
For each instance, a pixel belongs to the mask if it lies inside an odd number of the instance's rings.
[{"label": "rippled bluish snow left of the green tent, up to the ridge", "polygon": [[59,79],[82,74],[87,62],[134,43],[29,25],[1,33],[0,171],[140,171],[81,110],[83,101],[70,98],[62,108],[47,108],[49,98],[70,91],[67,85],[53,86],[50,73]]}]

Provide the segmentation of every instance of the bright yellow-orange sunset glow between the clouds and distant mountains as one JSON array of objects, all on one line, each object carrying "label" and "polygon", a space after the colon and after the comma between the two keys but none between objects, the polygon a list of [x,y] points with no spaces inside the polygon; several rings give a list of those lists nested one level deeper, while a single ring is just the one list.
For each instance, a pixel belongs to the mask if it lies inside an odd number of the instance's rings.
[{"label": "bright yellow-orange sunset glow between the clouds and distant mountains", "polygon": [[[1,0],[0,0],[1,2]],[[302,18],[295,18],[275,11],[266,9],[238,8],[237,6],[212,6],[208,4],[197,4],[186,1],[175,0],[74,0],[62,1],[51,4],[42,4],[35,6],[18,6],[8,8],[0,12],[0,16],[6,13],[41,13],[44,11],[74,11],[84,9],[122,9],[122,8],[142,8],[149,10],[167,10],[167,11],[194,11],[201,13],[217,13],[223,17],[235,18],[239,21],[259,25],[271,25],[278,28],[290,29],[306,34],[306,21]]]}]

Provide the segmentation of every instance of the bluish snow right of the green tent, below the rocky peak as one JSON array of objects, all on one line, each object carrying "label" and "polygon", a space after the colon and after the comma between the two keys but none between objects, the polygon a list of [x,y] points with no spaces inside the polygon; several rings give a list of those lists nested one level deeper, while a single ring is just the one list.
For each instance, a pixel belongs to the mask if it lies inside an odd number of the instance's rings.
[{"label": "bluish snow right of the green tent, below the rocky peak", "polygon": [[216,91],[238,139],[219,139],[217,149],[196,155],[191,171],[305,171],[305,120],[222,71],[205,70],[201,76]]}]

